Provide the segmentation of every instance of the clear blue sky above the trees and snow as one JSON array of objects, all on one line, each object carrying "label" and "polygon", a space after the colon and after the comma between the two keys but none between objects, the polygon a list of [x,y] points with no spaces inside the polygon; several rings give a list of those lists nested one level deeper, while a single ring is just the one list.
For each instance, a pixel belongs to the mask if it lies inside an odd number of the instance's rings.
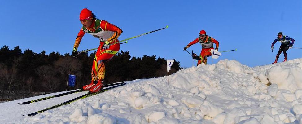
[{"label": "clear blue sky above the trees and snow", "polygon": [[[190,55],[183,51],[189,42],[204,29],[219,41],[221,59],[237,60],[254,67],[270,64],[281,43],[270,46],[282,31],[295,39],[294,47],[302,47],[302,3],[300,0],[274,1],[2,1],[0,4],[0,47],[10,49],[19,45],[22,51],[31,49],[47,54],[56,51],[71,53],[77,33],[81,29],[79,14],[90,9],[98,19],[123,30],[119,40],[164,28],[122,44],[120,50],[131,56],[156,55],[176,59],[182,67],[196,66]],[[79,51],[97,48],[99,41],[85,34]],[[188,48],[199,54],[199,43]],[[287,51],[288,60],[301,58],[301,49]],[[283,61],[283,53],[278,62]],[[209,64],[218,60],[208,59]]]}]

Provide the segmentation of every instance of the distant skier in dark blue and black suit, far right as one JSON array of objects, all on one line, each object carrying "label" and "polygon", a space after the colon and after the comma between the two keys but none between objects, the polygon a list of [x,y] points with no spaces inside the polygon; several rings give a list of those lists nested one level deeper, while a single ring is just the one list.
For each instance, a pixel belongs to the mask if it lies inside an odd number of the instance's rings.
[{"label": "distant skier in dark blue and black suit, far right", "polygon": [[[280,48],[279,48],[279,50],[278,50],[278,53],[277,53],[277,55],[276,55],[275,62],[272,63],[272,64],[277,63],[278,58],[279,58],[279,55],[281,54],[282,51],[283,51],[283,54],[284,54],[284,61],[283,61],[283,62],[287,61],[287,54],[286,54],[286,51],[287,51],[288,49],[292,48],[293,45],[294,45],[294,42],[295,42],[295,40],[294,40],[293,38],[290,38],[290,37],[288,37],[288,36],[286,36],[286,35],[282,35],[282,32],[279,32],[277,36],[278,36],[278,37],[277,37],[277,38],[274,40],[274,42],[272,43],[271,49],[272,49],[272,50],[274,49],[274,44],[275,44],[277,41],[278,41],[278,42],[281,42],[281,46],[280,46]],[[291,41],[291,42],[290,42],[290,41]]]}]

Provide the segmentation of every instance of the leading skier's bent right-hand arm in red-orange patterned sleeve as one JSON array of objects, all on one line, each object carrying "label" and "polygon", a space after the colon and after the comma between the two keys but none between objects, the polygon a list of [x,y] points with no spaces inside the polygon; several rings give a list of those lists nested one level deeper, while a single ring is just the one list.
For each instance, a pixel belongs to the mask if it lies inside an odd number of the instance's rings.
[{"label": "leading skier's bent right-hand arm in red-orange patterned sleeve", "polygon": [[120,29],[119,27],[117,27],[113,24],[110,24],[109,22],[107,22],[105,20],[101,21],[100,27],[105,31],[108,30],[108,31],[114,32],[112,37],[108,38],[108,40],[107,40],[109,43],[114,42],[118,37],[120,37],[120,34],[123,33],[122,29]]}]

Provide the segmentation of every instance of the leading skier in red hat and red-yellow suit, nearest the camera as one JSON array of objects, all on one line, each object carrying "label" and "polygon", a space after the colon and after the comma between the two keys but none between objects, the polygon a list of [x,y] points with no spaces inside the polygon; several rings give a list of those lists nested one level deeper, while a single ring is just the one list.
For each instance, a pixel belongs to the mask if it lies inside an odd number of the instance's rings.
[{"label": "leading skier in red hat and red-yellow suit, nearest the camera", "polygon": [[103,89],[103,80],[105,78],[104,63],[109,61],[120,50],[120,43],[110,44],[118,42],[117,38],[122,33],[122,30],[105,20],[96,19],[96,16],[87,8],[81,11],[80,21],[83,26],[74,43],[72,56],[77,57],[80,54],[77,48],[85,33],[89,33],[100,40],[100,45],[92,64],[91,83],[83,86],[84,90],[98,92]]}]

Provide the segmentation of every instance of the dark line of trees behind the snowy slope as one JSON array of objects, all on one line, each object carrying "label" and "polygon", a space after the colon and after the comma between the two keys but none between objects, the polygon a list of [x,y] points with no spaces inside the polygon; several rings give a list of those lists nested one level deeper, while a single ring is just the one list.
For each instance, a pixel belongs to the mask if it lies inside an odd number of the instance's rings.
[{"label": "dark line of trees behind the snowy slope", "polygon": [[[79,89],[91,82],[91,67],[95,52],[81,53],[78,58],[69,53],[46,51],[35,53],[26,49],[23,53],[19,46],[0,49],[0,98],[10,98],[20,92],[59,92],[66,90],[68,74],[76,75],[75,87]],[[166,60],[155,55],[131,57],[129,51],[118,52],[105,63],[104,84],[130,81],[142,78],[162,77],[167,74]],[[182,69],[174,61],[169,75]]]}]

